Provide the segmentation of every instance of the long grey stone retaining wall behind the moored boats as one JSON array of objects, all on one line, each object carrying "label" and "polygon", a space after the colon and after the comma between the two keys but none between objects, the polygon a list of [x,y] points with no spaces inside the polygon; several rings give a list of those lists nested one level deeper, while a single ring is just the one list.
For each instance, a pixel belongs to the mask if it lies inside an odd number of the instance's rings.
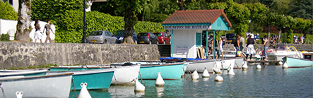
[{"label": "long grey stone retaining wall behind the moored boats", "polygon": [[157,45],[0,42],[0,68],[158,60]]}]

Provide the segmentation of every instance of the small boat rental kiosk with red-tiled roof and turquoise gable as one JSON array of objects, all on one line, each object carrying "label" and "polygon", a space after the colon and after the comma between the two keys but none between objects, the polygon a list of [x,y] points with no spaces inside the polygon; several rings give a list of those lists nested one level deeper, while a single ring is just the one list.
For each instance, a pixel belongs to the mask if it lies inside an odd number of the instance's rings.
[{"label": "small boat rental kiosk with red-tiled roof and turquoise gable", "polygon": [[[232,24],[225,15],[223,9],[196,10],[196,11],[175,11],[162,23],[165,30],[171,33],[171,57],[196,59],[197,49],[201,47],[203,36],[208,33],[215,33],[230,30]],[[202,32],[206,31],[205,34]],[[213,42],[213,53],[215,53],[215,42]],[[208,44],[206,44],[206,57],[208,56]],[[225,49],[226,50],[226,47]],[[215,55],[213,56],[215,59]]]}]

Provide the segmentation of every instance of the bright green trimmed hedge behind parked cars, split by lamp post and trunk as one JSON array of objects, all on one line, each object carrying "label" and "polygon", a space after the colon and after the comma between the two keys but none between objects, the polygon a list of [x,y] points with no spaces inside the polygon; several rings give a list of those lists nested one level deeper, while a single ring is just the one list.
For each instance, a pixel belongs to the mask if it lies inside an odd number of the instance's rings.
[{"label": "bright green trimmed hedge behind parked cars, split by lamp post and trunk", "polygon": [[[68,11],[56,19],[56,42],[80,43],[83,37],[83,11]],[[87,35],[93,30],[107,30],[114,33],[124,30],[124,18],[110,14],[90,11],[86,13]],[[138,22],[134,26],[138,32],[165,32],[161,23]]]}]

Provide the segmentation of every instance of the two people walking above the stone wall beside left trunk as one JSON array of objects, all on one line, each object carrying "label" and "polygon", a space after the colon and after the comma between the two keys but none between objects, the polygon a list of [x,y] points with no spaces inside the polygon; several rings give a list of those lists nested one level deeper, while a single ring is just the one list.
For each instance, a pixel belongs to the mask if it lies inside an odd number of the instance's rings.
[{"label": "two people walking above the stone wall beside left trunk", "polygon": [[54,34],[53,30],[51,29],[51,25],[50,25],[50,20],[47,20],[47,24],[45,25],[45,28],[43,30],[43,32],[40,32],[40,24],[39,24],[40,20],[36,20],[35,21],[35,42],[37,42],[37,39],[40,40],[40,43],[42,43],[42,35],[44,35],[43,33],[45,33],[46,31],[46,35],[47,38],[45,40],[45,43],[47,43],[47,41],[49,40],[49,42],[51,42],[51,38],[50,38],[50,30],[51,32]]}]

